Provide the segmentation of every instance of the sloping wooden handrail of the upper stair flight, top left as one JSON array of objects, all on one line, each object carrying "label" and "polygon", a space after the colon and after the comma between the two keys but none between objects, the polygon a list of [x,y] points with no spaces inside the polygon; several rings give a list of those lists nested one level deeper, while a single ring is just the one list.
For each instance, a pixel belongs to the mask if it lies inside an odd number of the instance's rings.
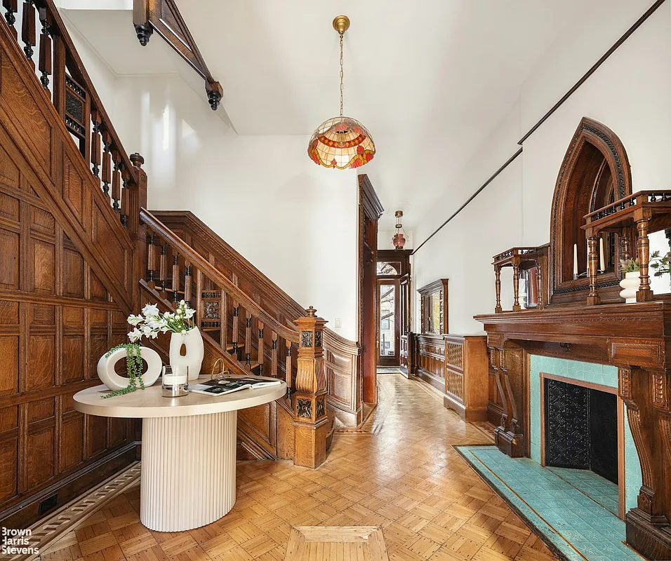
[{"label": "sloping wooden handrail of the upper stair flight, top left", "polygon": [[60,17],[58,8],[56,8],[53,0],[34,0],[34,5],[37,8],[46,9],[49,16],[49,27],[52,32],[58,34],[58,38],[63,41],[65,50],[67,52],[67,58],[71,60],[72,67],[74,67],[69,68],[70,72],[74,74],[72,77],[85,86],[86,93],[88,93],[88,96],[91,98],[91,110],[98,111],[98,116],[102,122],[102,128],[109,135],[109,138],[112,140],[112,144],[114,147],[116,147],[117,151],[119,151],[121,158],[123,158],[126,171],[131,177],[131,183],[133,185],[138,185],[138,170],[135,169],[133,163],[131,163],[131,158],[128,157],[128,152],[126,152],[124,149],[124,145],[121,144],[121,140],[119,140],[117,131],[114,130],[112,120],[109,119],[109,115],[107,114],[107,111],[105,111],[105,107],[103,106],[102,101],[98,96],[98,92],[93,86],[93,81],[91,81],[91,77],[88,76],[88,72],[86,72],[84,62],[81,62],[81,58],[79,58],[79,53],[77,53],[77,49],[74,47],[74,43],[72,42],[72,39],[67,32],[67,27],[65,27],[65,22],[63,22],[62,18]]}]

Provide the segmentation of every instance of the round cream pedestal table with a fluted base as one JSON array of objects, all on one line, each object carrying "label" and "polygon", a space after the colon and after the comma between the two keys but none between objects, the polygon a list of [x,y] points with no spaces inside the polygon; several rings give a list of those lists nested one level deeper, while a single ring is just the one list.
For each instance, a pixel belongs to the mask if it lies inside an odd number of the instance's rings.
[{"label": "round cream pedestal table with a fluted base", "polygon": [[158,532],[180,532],[210,524],[233,508],[237,410],[281,398],[286,384],[220,397],[164,398],[159,383],[101,399],[108,391],[105,386],[79,391],[74,408],[99,417],[142,419],[140,520]]}]

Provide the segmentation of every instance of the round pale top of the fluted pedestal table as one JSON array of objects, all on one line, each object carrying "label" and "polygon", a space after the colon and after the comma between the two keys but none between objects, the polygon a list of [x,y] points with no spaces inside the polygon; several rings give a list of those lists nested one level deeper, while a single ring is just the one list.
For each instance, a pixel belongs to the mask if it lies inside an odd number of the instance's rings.
[{"label": "round pale top of the fluted pedestal table", "polygon": [[[209,377],[200,377],[206,381]],[[190,384],[196,384],[192,381]],[[148,419],[150,417],[186,417],[234,411],[270,403],[286,395],[286,383],[266,388],[247,388],[225,396],[206,396],[203,393],[189,393],[179,398],[161,396],[161,379],[156,384],[124,396],[102,399],[108,393],[107,386],[93,386],[74,394],[74,408],[98,417],[124,417],[126,419]]]}]

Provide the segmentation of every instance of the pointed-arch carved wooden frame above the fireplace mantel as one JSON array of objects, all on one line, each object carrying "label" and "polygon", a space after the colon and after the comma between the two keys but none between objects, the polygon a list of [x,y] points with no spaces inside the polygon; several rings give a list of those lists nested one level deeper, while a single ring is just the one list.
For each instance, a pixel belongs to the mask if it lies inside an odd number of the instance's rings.
[{"label": "pointed-arch carved wooden frame above the fireplace mantel", "polygon": [[[550,302],[577,302],[588,290],[586,277],[573,279],[573,244],[578,248],[578,273],[587,269],[583,217],[611,201],[632,194],[627,151],[618,135],[583,117],[559,168],[550,216]],[[618,260],[599,275],[598,288],[617,287]],[[607,299],[607,296],[606,296]]]}]

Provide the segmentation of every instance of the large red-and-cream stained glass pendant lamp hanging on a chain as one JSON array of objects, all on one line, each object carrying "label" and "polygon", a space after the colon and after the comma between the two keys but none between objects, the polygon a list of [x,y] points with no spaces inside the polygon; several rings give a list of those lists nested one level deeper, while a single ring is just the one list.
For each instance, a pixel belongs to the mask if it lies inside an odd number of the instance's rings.
[{"label": "large red-and-cream stained glass pendant lamp hanging on a chain", "polygon": [[371,133],[356,119],[343,115],[343,36],[349,27],[346,15],[333,20],[333,29],[340,35],[340,116],[321,123],[307,146],[314,163],[339,170],[359,168],[375,156]]}]

